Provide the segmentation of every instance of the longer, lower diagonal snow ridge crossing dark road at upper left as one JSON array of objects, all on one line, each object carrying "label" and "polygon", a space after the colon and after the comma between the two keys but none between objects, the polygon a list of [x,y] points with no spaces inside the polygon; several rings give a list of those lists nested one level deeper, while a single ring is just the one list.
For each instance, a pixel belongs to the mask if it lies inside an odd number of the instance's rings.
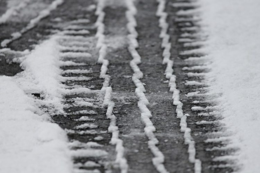
[{"label": "longer, lower diagonal snow ridge crossing dark road at upper left", "polygon": [[37,23],[39,21],[41,21],[41,19],[47,17],[50,14],[50,11],[54,10],[57,8],[58,5],[61,5],[64,1],[63,0],[55,0],[53,1],[48,8],[42,10],[39,15],[36,18],[31,19],[30,23],[24,27],[22,30],[20,30],[19,32],[15,32],[13,34],[11,34],[10,39],[5,39],[1,42],[1,46],[2,47],[6,47],[9,43],[11,43],[14,40],[17,40],[18,38],[20,38],[22,36],[22,34],[24,34],[25,32],[27,32],[28,30],[34,28]]}]

